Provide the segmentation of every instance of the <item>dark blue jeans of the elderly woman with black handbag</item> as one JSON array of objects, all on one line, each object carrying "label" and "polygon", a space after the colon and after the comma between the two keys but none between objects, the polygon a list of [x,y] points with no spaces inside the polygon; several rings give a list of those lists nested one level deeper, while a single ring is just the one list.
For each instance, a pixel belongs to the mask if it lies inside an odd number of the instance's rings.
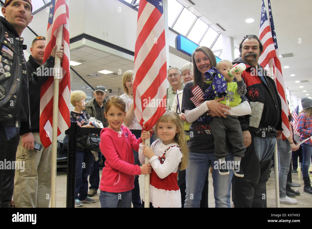
[{"label": "dark blue jeans of the elderly woman with black handbag", "polygon": [[88,196],[88,176],[93,158],[90,151],[76,150],[75,199],[84,200]]}]

